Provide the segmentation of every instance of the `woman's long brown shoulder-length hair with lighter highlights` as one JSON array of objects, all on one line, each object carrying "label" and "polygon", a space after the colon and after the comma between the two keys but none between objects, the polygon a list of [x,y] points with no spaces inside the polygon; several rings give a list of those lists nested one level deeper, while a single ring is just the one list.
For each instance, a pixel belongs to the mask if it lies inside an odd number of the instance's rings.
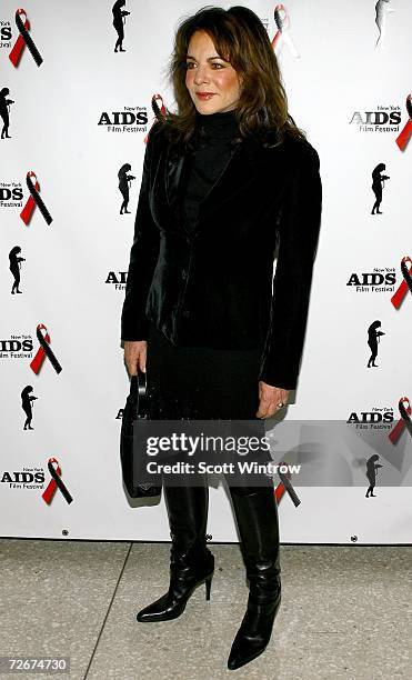
[{"label": "woman's long brown shoulder-length hair with lighter highlights", "polygon": [[268,139],[277,143],[285,134],[305,139],[288,111],[287,93],[268,32],[259,17],[245,7],[204,7],[183,19],[174,37],[168,73],[173,84],[178,112],[167,111],[169,137],[188,142],[195,129],[197,109],[185,86],[187,53],[194,31],[205,31],[222,59],[241,74],[242,86],[235,116],[241,137]]}]

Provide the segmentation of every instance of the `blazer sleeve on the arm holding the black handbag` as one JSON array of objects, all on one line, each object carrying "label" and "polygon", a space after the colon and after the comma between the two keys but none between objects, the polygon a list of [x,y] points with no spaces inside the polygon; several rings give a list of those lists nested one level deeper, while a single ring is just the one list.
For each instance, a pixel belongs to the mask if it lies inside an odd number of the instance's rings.
[{"label": "blazer sleeve on the arm holding the black handbag", "polygon": [[154,123],[151,128],[144,152],[143,173],[134,220],[134,238],[130,251],[125,294],[121,313],[122,340],[147,340],[148,338],[149,321],[144,310],[159,257],[160,240],[159,228],[153,220],[149,203],[150,170],[154,154],[154,139],[158,126],[159,123]]}]

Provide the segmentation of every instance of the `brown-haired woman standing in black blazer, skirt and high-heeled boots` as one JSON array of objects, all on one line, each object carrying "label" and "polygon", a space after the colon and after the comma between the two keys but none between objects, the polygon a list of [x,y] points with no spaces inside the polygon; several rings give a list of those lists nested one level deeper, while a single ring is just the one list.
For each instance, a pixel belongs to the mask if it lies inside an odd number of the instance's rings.
[{"label": "brown-haired woman standing in black blazer, skirt and high-heeled boots", "polygon": [[[185,19],[170,64],[178,113],[151,129],[122,310],[124,360],[145,371],[151,418],[262,419],[297,386],[321,212],[316,151],[288,113],[251,10]],[[279,246],[275,294],[273,257]],[[257,420],[255,420],[257,421]],[[228,478],[227,478],[228,479]],[[249,600],[228,667],[267,647],[280,604],[273,482],[230,484]],[[169,591],[139,621],[180,616],[214,559],[208,484],[163,476]]]}]

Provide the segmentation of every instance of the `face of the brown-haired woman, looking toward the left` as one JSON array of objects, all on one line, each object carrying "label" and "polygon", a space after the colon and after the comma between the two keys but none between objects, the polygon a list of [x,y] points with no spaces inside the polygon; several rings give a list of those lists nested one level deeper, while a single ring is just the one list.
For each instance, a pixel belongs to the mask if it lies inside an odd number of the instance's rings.
[{"label": "face of the brown-haired woman, looking toward the left", "polygon": [[190,39],[185,86],[199,113],[230,111],[239,102],[238,73],[219,57],[212,39],[204,31],[195,31]]}]

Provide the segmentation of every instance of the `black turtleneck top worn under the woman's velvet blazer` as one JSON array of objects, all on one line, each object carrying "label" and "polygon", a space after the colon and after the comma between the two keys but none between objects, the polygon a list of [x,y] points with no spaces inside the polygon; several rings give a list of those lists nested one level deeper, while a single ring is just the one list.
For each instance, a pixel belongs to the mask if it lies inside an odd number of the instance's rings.
[{"label": "black turtleneck top worn under the woman's velvet blazer", "polygon": [[199,202],[213,187],[229,162],[239,131],[234,110],[202,114],[197,112],[199,142],[192,154],[183,196],[183,210],[189,228],[193,228]]}]

